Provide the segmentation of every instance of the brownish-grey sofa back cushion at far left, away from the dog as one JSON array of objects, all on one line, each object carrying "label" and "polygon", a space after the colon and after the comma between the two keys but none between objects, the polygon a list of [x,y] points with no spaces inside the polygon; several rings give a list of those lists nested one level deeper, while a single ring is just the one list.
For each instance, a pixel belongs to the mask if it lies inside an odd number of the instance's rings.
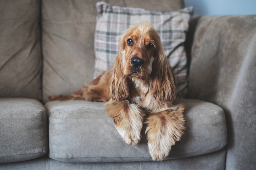
[{"label": "brownish-grey sofa back cushion at far left, away from the dog", "polygon": [[39,0],[0,1],[0,97],[42,99]]}]

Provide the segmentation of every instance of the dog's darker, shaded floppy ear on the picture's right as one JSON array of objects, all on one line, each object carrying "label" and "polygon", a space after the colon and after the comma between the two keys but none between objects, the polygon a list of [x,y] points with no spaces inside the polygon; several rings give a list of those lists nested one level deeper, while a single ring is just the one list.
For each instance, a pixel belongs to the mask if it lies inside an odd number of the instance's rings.
[{"label": "dog's darker, shaded floppy ear on the picture's right", "polygon": [[158,46],[155,60],[152,65],[150,86],[156,100],[161,103],[171,103],[176,99],[173,70],[164,54],[161,41]]}]

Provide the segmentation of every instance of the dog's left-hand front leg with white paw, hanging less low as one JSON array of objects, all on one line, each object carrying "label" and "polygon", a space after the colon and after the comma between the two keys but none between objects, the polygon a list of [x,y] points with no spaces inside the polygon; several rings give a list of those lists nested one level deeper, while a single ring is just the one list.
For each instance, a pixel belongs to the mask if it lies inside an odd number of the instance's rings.
[{"label": "dog's left-hand front leg with white paw, hanging less low", "polygon": [[129,101],[111,100],[106,103],[107,112],[114,119],[114,125],[129,145],[137,145],[140,142],[140,132],[145,114],[136,104]]}]

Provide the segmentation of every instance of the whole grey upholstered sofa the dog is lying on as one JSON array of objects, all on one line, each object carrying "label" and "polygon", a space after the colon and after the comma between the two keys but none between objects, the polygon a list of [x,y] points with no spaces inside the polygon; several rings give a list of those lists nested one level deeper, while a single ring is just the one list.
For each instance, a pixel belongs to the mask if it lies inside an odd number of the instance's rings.
[{"label": "whole grey upholstered sofa the dog is lying on", "polygon": [[[129,146],[104,103],[47,101],[92,80],[97,0],[0,1],[0,170],[256,168],[256,15],[199,16],[185,47],[186,131],[162,162]],[[174,11],[182,0],[110,0]]]}]

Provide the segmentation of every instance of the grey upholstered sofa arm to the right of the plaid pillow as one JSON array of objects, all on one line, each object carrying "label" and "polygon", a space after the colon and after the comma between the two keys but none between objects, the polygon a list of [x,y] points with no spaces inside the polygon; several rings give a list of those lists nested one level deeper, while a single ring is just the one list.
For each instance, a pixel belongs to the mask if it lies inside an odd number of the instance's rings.
[{"label": "grey upholstered sofa arm to the right of the plaid pillow", "polygon": [[189,97],[225,110],[227,170],[256,167],[256,15],[193,18]]}]

